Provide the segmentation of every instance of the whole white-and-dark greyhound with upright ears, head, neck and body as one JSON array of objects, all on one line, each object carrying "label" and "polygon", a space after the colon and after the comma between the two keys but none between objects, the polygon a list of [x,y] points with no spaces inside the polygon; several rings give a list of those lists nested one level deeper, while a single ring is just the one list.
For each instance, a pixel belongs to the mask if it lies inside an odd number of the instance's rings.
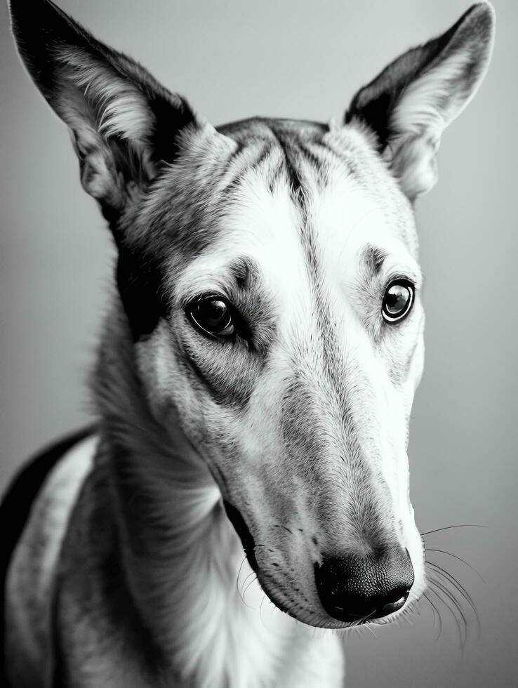
[{"label": "whole white-and-dark greyhound with upright ears, head, neck and body", "polygon": [[413,202],[484,77],[493,9],[394,60],[341,124],[218,128],[50,1],[11,15],[109,224],[118,289],[95,428],[4,500],[6,675],[343,686],[336,629],[398,618],[425,590],[406,454]]}]

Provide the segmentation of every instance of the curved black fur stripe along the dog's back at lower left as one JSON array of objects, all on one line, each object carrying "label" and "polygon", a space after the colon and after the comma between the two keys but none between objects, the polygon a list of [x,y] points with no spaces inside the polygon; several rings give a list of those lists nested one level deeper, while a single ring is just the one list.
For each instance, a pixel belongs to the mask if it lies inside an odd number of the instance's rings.
[{"label": "curved black fur stripe along the dog's back at lower left", "polygon": [[[69,435],[58,444],[53,444],[44,449],[34,458],[29,459],[25,466],[18,472],[8,486],[0,503],[0,529],[2,533],[2,546],[0,549],[0,640],[2,654],[0,660],[0,685],[8,686],[6,668],[4,666],[5,647],[5,611],[6,611],[6,576],[9,563],[15,547],[27,524],[32,504],[39,494],[46,477],[56,463],[64,456],[74,444],[81,442],[88,435],[92,435],[95,428],[79,430],[74,435]],[[14,688],[14,687],[13,687]]]}]

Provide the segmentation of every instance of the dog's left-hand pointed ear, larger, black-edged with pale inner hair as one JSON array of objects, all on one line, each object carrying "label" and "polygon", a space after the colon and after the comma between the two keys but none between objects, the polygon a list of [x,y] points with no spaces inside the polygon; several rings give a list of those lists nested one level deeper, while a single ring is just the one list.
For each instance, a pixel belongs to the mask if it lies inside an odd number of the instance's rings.
[{"label": "dog's left-hand pointed ear, larger, black-edged with pale inner hair", "polygon": [[109,218],[135,185],[177,154],[176,136],[199,126],[185,100],[140,65],[95,40],[48,0],[11,0],[13,33],[23,61],[65,121],[81,183]]}]

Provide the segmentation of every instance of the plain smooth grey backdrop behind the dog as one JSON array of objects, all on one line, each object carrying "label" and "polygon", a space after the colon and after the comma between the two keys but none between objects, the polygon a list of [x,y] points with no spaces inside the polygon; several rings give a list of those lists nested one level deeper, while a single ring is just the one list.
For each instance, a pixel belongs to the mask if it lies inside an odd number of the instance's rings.
[{"label": "plain smooth grey backdrop behind the dog", "polygon": [[[449,27],[465,0],[60,0],[214,124],[253,114],[340,117],[358,86]],[[411,490],[427,545],[479,611],[460,650],[442,608],[352,633],[348,688],[518,685],[518,4],[496,0],[493,63],[444,135],[439,184],[418,201],[427,362],[411,427]],[[44,442],[88,419],[86,378],[113,251],[79,185],[67,131],[29,82],[0,5],[0,423],[3,487]],[[437,600],[436,600],[437,602]]]}]

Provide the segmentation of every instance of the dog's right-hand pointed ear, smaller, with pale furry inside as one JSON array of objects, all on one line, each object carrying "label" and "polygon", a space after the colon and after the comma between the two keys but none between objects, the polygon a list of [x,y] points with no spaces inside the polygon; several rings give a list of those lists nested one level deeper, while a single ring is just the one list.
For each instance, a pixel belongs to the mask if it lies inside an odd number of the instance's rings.
[{"label": "dog's right-hand pointed ear, smaller, with pale furry inside", "polygon": [[449,31],[412,48],[354,96],[345,123],[367,124],[413,201],[437,181],[444,128],[477,92],[491,58],[494,11],[473,5]]}]

